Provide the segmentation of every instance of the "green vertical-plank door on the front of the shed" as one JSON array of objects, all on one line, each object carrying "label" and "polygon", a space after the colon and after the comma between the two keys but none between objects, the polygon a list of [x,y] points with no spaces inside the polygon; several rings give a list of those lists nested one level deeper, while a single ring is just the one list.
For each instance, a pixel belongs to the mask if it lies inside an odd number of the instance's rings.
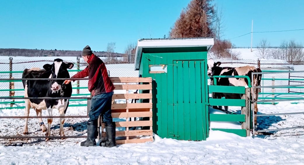
[{"label": "green vertical-plank door on the front of the shed", "polygon": [[169,137],[206,140],[205,73],[204,60],[173,61],[174,126],[168,129]]}]

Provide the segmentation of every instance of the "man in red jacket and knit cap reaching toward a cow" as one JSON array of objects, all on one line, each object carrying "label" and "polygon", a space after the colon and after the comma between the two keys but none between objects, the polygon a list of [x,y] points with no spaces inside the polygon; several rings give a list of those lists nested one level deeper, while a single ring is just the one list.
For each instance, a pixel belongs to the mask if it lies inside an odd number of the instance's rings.
[{"label": "man in red jacket and knit cap reaching toward a cow", "polygon": [[[116,146],[116,125],[112,120],[112,95],[114,85],[108,76],[105,63],[95,56],[90,46],[85,46],[81,52],[82,58],[88,62],[88,66],[78,72],[71,78],[85,78],[88,77],[88,90],[92,93],[92,105],[89,111],[89,120],[87,124],[88,138],[81,142],[81,146],[95,146],[97,138],[98,116],[102,115],[102,121],[105,123],[105,131],[107,133],[107,141],[100,143],[100,146],[113,147]],[[65,80],[68,84],[71,80]]]}]

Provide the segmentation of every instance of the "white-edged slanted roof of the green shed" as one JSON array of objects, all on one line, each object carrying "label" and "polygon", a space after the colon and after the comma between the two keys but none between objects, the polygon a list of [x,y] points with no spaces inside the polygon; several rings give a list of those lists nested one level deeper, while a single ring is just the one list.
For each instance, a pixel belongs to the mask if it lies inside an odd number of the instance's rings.
[{"label": "white-edged slanted roof of the green shed", "polygon": [[139,39],[136,47],[135,70],[139,70],[143,48],[207,47],[208,52],[213,45],[213,38]]}]

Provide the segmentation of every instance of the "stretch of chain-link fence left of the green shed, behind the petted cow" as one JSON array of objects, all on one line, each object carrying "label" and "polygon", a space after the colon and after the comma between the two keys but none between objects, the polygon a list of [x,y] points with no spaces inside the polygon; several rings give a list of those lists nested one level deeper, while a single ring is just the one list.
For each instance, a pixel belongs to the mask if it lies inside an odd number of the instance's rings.
[{"label": "stretch of chain-link fence left of the green shed, behind the petted cow", "polygon": [[[52,64],[57,57],[7,57],[0,58],[0,80],[1,79],[16,79],[22,78],[24,69],[40,68],[43,65]],[[72,69],[68,69],[70,77],[85,69],[88,63],[80,57],[58,57],[64,62],[74,63]],[[103,59],[103,57],[100,57]],[[134,58],[132,59],[118,59],[110,61],[103,59],[110,77],[138,77],[138,71],[135,71]],[[77,80],[72,83],[73,94],[89,95],[88,80]],[[24,96],[24,88],[21,80],[16,81],[0,81],[2,88],[0,89],[0,96]]]}]

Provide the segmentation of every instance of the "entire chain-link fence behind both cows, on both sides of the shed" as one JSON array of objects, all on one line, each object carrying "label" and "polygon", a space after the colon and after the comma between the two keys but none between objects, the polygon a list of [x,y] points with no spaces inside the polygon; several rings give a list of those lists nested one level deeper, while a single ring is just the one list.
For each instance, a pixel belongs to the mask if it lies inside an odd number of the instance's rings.
[{"label": "entire chain-link fence behind both cows, on both sides of the shed", "polygon": [[[24,69],[30,69],[34,67],[43,68],[45,64],[52,64],[57,57],[7,57],[2,56],[0,58],[0,79],[7,78],[22,78],[22,72]],[[80,57],[59,57],[64,62],[74,63],[74,67],[69,70],[70,76],[73,76],[80,70],[84,69],[88,64]],[[106,57],[100,57],[106,64],[108,74],[110,77],[138,77],[139,72],[134,68],[134,56],[130,59],[119,58],[107,60]],[[285,73],[276,74],[276,71],[302,71],[304,70],[304,62],[286,62],[283,60],[231,60],[231,59],[215,59],[215,61],[222,62],[221,66],[225,67],[240,67],[240,66],[255,66],[261,68],[263,72],[274,72],[273,74],[265,74],[262,77],[262,86],[271,85],[296,85],[303,84],[303,81],[293,81],[290,79],[304,79],[302,73]],[[289,79],[289,80],[286,80]],[[24,90],[22,81],[1,81],[2,88],[0,89],[0,96],[23,96]],[[89,94],[87,86],[87,80],[72,82],[73,93]],[[14,90],[10,90],[10,89]],[[274,92],[273,89],[262,89]],[[292,93],[292,92],[304,92],[302,88],[278,88],[275,92],[280,93]]]}]

